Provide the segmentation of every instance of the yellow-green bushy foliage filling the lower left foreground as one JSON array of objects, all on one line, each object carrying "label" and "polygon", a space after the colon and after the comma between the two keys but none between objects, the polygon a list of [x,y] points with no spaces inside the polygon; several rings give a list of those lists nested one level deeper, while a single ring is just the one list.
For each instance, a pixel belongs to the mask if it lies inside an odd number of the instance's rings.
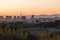
[{"label": "yellow-green bushy foliage filling the lower left foreground", "polygon": [[24,30],[22,23],[0,23],[0,38],[3,40],[26,40],[30,35],[32,34]]}]

